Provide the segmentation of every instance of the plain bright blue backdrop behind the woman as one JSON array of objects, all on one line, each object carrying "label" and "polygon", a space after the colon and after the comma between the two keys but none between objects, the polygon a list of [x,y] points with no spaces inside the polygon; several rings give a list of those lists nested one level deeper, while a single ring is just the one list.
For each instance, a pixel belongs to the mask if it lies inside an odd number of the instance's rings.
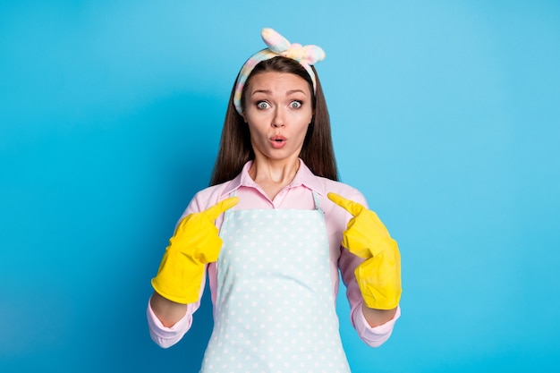
[{"label": "plain bright blue backdrop behind the woman", "polygon": [[339,304],[353,371],[560,369],[558,2],[52,0],[0,4],[0,370],[199,369],[208,295],[163,350],[149,279],[263,27],[326,50],[342,181],[402,251],[386,344]]}]

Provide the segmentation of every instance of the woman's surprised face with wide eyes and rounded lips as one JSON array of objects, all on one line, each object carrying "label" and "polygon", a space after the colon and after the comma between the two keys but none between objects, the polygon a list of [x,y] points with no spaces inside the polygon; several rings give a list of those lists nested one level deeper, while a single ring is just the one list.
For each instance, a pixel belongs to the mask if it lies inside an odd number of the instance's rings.
[{"label": "woman's surprised face with wide eyes and rounded lips", "polygon": [[243,117],[255,157],[299,157],[313,116],[308,82],[293,73],[261,72],[251,77],[245,95]]}]

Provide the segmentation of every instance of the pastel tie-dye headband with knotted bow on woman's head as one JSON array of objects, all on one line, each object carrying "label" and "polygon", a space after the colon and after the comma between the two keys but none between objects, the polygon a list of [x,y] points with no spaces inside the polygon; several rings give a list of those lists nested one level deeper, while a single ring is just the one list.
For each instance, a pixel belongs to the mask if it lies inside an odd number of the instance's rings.
[{"label": "pastel tie-dye headband with knotted bow on woman's head", "polygon": [[242,114],[242,91],[245,86],[250,72],[253,71],[255,66],[261,61],[266,61],[278,55],[283,57],[292,58],[299,62],[303,68],[310,74],[311,81],[313,82],[313,90],[317,89],[317,82],[315,73],[311,70],[312,64],[317,64],[319,61],[325,59],[325,52],[321,47],[317,46],[301,46],[301,44],[291,44],[286,38],[272,29],[263,29],[260,33],[267,48],[251,55],[245,64],[243,64],[239,77],[235,82],[235,92],[233,93],[233,105],[237,113]]}]

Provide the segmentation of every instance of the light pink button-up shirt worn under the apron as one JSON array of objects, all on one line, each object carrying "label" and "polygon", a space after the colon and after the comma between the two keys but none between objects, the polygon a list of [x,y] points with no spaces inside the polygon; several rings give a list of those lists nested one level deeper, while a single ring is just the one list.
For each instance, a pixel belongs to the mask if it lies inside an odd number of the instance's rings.
[{"label": "light pink button-up shirt worn under the apron", "polygon": [[[369,346],[378,347],[386,342],[393,332],[395,321],[400,317],[401,310],[400,308],[397,309],[395,318],[388,321],[386,324],[376,327],[369,326],[361,312],[363,299],[354,276],[354,269],[360,265],[363,259],[353,255],[341,245],[343,232],[352,216],[346,212],[344,208],[336,206],[330,199],[327,199],[327,192],[332,191],[346,199],[352,199],[367,207],[366,199],[361,192],[342,182],[335,182],[312,174],[310,169],[300,161],[300,169],[295,175],[293,182],[284,187],[284,189],[276,195],[275,199],[270,200],[259,185],[250,178],[248,173],[250,165],[251,162],[244,165],[241,174],[232,181],[199,191],[191,200],[191,203],[186,208],[179,221],[181,221],[184,216],[214,206],[218,201],[229,197],[232,192],[235,192],[235,196],[239,197],[239,203],[235,205],[233,209],[314,209],[315,203],[312,191],[316,191],[318,193],[320,208],[325,212],[330,249],[331,283],[335,299],[338,293],[340,270],[343,283],[346,286],[346,297],[350,302],[352,326],[356,329],[358,335],[360,335],[361,340]],[[218,229],[222,226],[223,220],[223,215],[216,219],[216,227]],[[208,283],[210,285],[213,305],[216,305],[216,282],[216,263],[210,263],[208,264]],[[204,291],[204,285],[205,282],[203,281],[200,287],[200,295],[202,295]],[[192,314],[199,309],[199,304],[199,301],[189,304],[187,313],[181,320],[174,326],[165,327],[156,317],[148,302],[148,326],[154,342],[164,348],[179,342],[182,336],[190,329]]]}]

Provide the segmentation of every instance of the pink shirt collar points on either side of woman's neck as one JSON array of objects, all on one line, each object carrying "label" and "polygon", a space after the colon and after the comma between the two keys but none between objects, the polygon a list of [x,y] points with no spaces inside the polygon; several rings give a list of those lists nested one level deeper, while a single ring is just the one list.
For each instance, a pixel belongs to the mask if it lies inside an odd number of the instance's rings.
[{"label": "pink shirt collar points on either side of woman's neck", "polygon": [[[222,197],[230,195],[233,191],[237,191],[240,187],[258,188],[258,184],[250,178],[249,169],[253,161],[247,162],[243,165],[242,172],[238,174],[231,182],[228,182],[222,191]],[[288,188],[305,186],[311,191],[317,191],[318,194],[325,195],[325,186],[319,181],[319,178],[311,172],[309,167],[300,159],[300,169],[293,178],[293,181],[288,185]]]}]

